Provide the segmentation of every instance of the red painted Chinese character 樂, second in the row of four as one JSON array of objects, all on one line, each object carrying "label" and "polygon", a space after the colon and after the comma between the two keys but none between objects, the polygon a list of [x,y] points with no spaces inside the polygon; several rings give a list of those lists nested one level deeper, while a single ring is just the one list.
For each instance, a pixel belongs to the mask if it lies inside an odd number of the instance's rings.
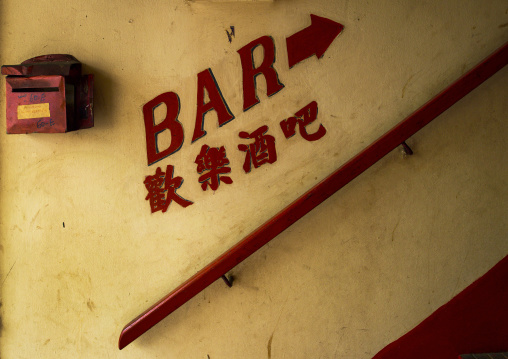
[{"label": "red painted Chinese character \u6a02, second in the row of four", "polygon": [[221,181],[227,184],[233,183],[230,177],[222,176],[223,174],[231,172],[231,168],[226,166],[229,164],[229,160],[226,157],[226,149],[224,146],[221,148],[210,148],[208,145],[203,145],[194,163],[198,165],[197,171],[199,174],[204,171],[209,171],[199,177],[199,182],[201,183],[203,191],[206,191],[208,186],[210,186],[213,191],[217,190]]}]

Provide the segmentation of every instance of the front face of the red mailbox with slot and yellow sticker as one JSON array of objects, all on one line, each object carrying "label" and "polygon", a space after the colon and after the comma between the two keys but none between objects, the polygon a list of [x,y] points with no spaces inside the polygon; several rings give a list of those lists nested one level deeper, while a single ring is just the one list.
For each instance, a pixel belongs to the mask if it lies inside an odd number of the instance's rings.
[{"label": "front face of the red mailbox with slot and yellow sticker", "polygon": [[67,131],[63,76],[8,76],[6,100],[8,134]]}]

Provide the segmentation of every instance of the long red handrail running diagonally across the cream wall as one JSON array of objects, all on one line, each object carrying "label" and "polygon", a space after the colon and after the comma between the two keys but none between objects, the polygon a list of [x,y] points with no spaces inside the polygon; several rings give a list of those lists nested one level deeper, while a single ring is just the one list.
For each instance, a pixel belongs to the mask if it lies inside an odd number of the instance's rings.
[{"label": "long red handrail running diagonally across the cream wall", "polygon": [[120,334],[118,347],[123,349],[182,304],[230,271],[237,264],[275,238],[279,233],[310,212],[314,207],[402,144],[462,97],[474,90],[507,63],[508,43],[127,324]]}]

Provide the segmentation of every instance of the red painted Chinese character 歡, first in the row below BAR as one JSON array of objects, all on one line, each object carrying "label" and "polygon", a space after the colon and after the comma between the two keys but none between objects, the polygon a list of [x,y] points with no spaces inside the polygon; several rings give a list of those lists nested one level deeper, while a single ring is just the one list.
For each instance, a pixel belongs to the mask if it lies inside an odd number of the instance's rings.
[{"label": "red painted Chinese character \u6b61, first in the row below BAR", "polygon": [[176,190],[182,186],[183,178],[173,178],[173,171],[174,167],[171,165],[166,167],[166,173],[162,172],[160,167],[157,167],[155,175],[146,176],[143,183],[148,190],[148,195],[145,199],[150,201],[152,213],[157,211],[166,212],[172,201],[184,208],[193,204],[193,202],[187,201],[176,193]]}]

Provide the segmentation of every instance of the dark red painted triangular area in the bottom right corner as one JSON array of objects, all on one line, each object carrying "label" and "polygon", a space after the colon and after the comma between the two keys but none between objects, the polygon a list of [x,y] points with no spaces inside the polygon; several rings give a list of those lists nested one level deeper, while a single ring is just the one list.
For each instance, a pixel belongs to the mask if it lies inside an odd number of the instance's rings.
[{"label": "dark red painted triangular area in the bottom right corner", "polygon": [[499,358],[508,350],[506,278],[508,256],[373,359]]}]

